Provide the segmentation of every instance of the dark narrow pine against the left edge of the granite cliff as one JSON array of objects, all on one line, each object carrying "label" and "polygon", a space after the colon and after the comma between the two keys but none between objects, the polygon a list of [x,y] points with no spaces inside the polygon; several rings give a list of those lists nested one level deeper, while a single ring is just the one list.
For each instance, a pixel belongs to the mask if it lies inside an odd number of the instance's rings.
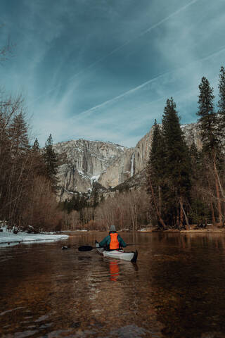
[{"label": "dark narrow pine against the left edge of the granite cliff", "polygon": [[44,163],[46,165],[46,173],[53,184],[53,189],[56,189],[57,173],[58,173],[58,156],[53,149],[53,140],[51,134],[46,141],[44,147]]}]

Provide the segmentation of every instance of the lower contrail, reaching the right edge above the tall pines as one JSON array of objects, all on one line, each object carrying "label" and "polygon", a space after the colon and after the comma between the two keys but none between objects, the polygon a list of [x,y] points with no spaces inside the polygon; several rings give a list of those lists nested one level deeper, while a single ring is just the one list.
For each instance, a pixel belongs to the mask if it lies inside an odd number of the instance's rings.
[{"label": "lower contrail, reaching the right edge above the tall pines", "polygon": [[106,106],[106,105],[108,105],[108,104],[110,104],[112,102],[115,102],[115,101],[117,101],[119,99],[122,99],[122,97],[127,96],[129,94],[132,94],[132,93],[136,92],[137,90],[139,90],[139,89],[141,89],[143,87],[146,87],[148,84],[150,84],[151,82],[154,82],[155,80],[158,80],[160,77],[164,77],[165,75],[169,75],[169,74],[175,73],[178,70],[183,70],[186,67],[188,67],[189,65],[192,65],[193,63],[198,63],[198,62],[201,62],[201,61],[206,61],[206,60],[212,58],[212,56],[220,54],[222,51],[225,51],[225,45],[221,46],[221,48],[219,50],[213,51],[211,54],[209,54],[207,56],[204,56],[203,58],[200,58],[198,60],[191,61],[190,63],[187,63],[184,67],[176,68],[174,70],[170,70],[169,72],[166,72],[166,73],[163,73],[163,74],[158,75],[156,77],[153,77],[152,79],[150,79],[150,80],[148,80],[146,82],[143,82],[142,84],[139,84],[139,86],[134,87],[132,89],[129,89],[127,92],[124,92],[124,93],[122,93],[122,94],[120,94],[118,96],[113,97],[113,99],[105,101],[102,104],[98,104],[97,106],[89,108],[86,111],[82,111],[81,113],[79,113],[79,115],[77,115],[77,118],[81,117],[81,115],[85,115],[86,113],[91,113],[92,111],[96,111],[96,109],[98,109],[98,108],[102,108],[102,107],[104,107],[104,106]]}]

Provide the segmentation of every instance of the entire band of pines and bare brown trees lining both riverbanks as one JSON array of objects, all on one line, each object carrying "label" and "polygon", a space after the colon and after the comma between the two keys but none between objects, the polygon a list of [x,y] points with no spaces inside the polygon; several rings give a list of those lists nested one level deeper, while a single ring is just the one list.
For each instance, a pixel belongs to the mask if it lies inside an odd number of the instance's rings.
[{"label": "entire band of pines and bare brown trees lining both riverbanks", "polygon": [[0,219],[29,231],[86,229],[188,229],[224,226],[225,70],[219,73],[219,97],[203,77],[199,85],[198,122],[202,147],[188,146],[174,99],[167,99],[162,122],[155,120],[153,140],[139,187],[75,194],[58,201],[62,156],[51,134],[44,148],[31,144],[23,99],[0,93]]}]

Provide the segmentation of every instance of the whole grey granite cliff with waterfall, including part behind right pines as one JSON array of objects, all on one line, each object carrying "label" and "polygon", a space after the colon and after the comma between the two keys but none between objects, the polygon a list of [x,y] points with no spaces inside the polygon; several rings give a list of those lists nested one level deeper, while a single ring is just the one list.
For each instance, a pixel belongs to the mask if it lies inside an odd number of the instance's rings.
[{"label": "whole grey granite cliff with waterfall, including part behind right pines", "polygon": [[[182,125],[186,142],[201,147],[197,125]],[[58,154],[64,154],[58,179],[60,199],[70,198],[75,192],[88,192],[94,180],[106,189],[116,187],[146,168],[153,128],[134,148],[119,144],[85,139],[60,142],[54,145]]]}]

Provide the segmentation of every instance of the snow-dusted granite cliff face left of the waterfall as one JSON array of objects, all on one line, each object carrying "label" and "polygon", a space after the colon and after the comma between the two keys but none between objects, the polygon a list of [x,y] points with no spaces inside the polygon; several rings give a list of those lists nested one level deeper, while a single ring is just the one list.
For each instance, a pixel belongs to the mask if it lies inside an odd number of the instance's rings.
[{"label": "snow-dusted granite cliff face left of the waterfall", "polygon": [[60,165],[58,178],[60,181],[60,196],[62,199],[71,196],[72,192],[86,192],[92,183],[99,180],[115,162],[127,151],[119,144],[85,139],[59,142],[54,145],[58,154],[65,155],[63,165]]}]

